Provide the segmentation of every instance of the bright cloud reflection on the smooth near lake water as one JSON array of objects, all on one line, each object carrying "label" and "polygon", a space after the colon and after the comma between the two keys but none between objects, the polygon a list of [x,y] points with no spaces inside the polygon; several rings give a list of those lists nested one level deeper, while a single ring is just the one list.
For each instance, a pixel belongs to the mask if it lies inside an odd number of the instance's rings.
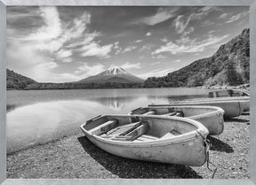
[{"label": "bright cloud reflection on the smooth near lake water", "polygon": [[[96,101],[70,100],[37,103],[7,113],[7,152],[46,143],[80,132],[79,126],[99,114],[127,114],[146,106],[148,98],[100,98]],[[99,103],[100,102],[100,103]],[[114,107],[114,108],[113,108]]]}]

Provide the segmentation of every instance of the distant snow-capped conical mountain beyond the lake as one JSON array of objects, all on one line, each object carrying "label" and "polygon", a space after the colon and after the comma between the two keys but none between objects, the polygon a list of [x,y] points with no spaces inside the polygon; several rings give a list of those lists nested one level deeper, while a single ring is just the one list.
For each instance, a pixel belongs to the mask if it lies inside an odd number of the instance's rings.
[{"label": "distant snow-capped conical mountain beyond the lake", "polygon": [[111,66],[108,70],[98,73],[94,76],[90,76],[81,81],[77,81],[78,83],[143,83],[144,80],[139,77],[133,75],[132,73],[126,72],[122,67],[119,66]]}]

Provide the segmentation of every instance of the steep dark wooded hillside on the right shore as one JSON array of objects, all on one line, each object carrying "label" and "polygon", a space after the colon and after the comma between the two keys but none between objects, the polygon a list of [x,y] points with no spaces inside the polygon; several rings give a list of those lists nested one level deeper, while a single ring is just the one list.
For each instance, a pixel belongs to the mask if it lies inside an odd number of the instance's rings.
[{"label": "steep dark wooded hillside on the right shore", "polygon": [[145,88],[239,85],[250,81],[250,28],[226,44],[210,58],[196,60],[164,77],[150,77]]}]

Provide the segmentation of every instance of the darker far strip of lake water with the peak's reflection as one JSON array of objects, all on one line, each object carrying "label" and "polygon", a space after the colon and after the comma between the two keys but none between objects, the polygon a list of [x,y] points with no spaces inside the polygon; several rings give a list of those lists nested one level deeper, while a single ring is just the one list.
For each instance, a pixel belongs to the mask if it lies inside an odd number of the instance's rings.
[{"label": "darker far strip of lake water with the peak's reflection", "polygon": [[[147,97],[148,101],[190,98],[204,95],[205,89],[70,89],[70,90],[8,90],[6,110],[39,102],[61,100],[84,100],[108,104],[113,109],[122,108],[123,103]],[[188,96],[189,95],[189,96]],[[109,100],[110,99],[110,100]]]}]

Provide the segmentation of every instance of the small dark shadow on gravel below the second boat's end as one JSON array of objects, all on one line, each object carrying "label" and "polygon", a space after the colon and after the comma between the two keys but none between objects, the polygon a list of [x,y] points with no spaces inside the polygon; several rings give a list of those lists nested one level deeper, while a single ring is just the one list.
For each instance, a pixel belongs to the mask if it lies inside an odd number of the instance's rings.
[{"label": "small dark shadow on gravel below the second boat's end", "polygon": [[207,139],[212,143],[212,147],[210,150],[218,150],[226,153],[233,153],[234,150],[227,143],[220,141],[219,139],[212,137],[210,135],[207,136]]}]

